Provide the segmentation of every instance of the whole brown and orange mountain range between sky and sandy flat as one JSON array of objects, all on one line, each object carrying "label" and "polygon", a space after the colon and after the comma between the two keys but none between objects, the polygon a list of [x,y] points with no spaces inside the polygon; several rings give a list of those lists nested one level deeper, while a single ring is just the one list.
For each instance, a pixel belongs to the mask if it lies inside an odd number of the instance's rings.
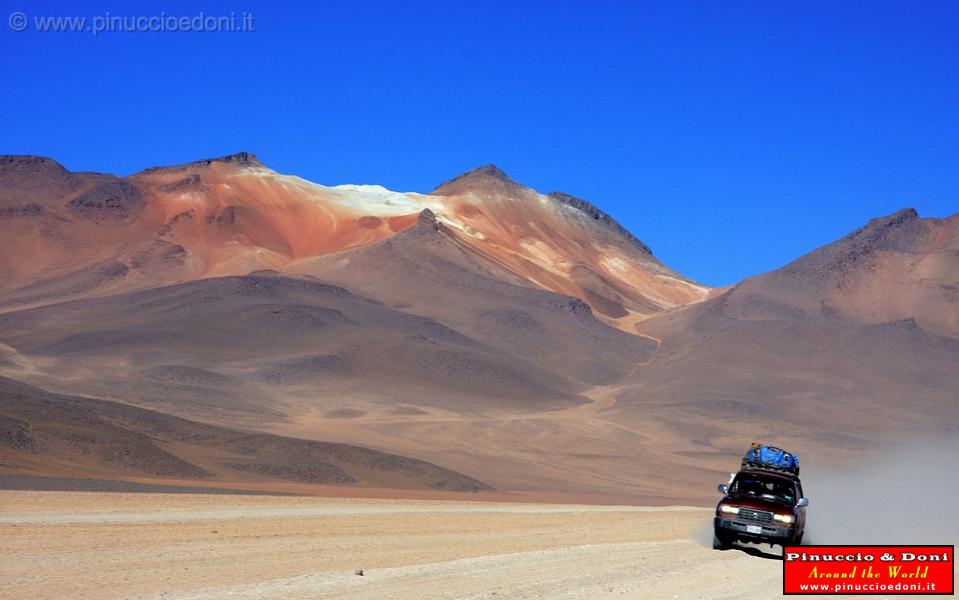
[{"label": "whole brown and orange mountain range between sky and sandy flat", "polygon": [[959,215],[711,289],[492,165],[419,194],[6,156],[0,240],[0,486],[675,503],[754,439],[828,462],[959,431]]}]

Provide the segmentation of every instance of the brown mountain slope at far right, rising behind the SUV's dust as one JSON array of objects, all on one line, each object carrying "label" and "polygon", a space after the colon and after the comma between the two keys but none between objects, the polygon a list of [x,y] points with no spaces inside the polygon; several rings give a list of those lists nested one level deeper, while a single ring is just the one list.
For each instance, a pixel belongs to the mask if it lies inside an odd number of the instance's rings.
[{"label": "brown mountain slope at far right, rising behind the SUV's dust", "polygon": [[875,219],[782,269],[653,318],[657,359],[617,417],[655,418],[730,451],[773,438],[797,452],[959,431],[959,218]]}]

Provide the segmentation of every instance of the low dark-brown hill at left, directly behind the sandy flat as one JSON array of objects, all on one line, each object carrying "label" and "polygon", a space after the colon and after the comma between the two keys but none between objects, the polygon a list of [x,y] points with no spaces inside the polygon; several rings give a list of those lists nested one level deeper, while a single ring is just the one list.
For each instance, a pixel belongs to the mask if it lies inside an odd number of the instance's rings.
[{"label": "low dark-brown hill at left, directly behind the sandy flat", "polygon": [[0,474],[480,491],[475,479],[344,444],[243,433],[0,377]]}]

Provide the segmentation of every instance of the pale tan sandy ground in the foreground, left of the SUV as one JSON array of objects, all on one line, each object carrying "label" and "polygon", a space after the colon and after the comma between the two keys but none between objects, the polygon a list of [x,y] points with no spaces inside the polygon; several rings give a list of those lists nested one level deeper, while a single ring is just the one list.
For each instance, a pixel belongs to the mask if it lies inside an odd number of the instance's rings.
[{"label": "pale tan sandy ground in the foreground, left of the SUV", "polygon": [[781,562],[705,547],[709,516],[689,507],[8,491],[0,597],[778,597]]}]

